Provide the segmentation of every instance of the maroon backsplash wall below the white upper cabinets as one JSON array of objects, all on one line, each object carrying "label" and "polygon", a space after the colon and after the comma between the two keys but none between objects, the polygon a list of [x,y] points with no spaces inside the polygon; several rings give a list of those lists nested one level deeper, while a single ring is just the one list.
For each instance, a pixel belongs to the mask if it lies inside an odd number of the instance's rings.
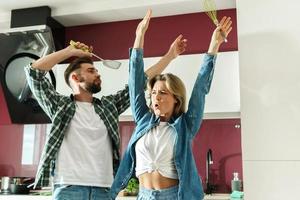
[{"label": "maroon backsplash wall below the white upper cabinets", "polygon": [[[209,148],[213,151],[212,183],[216,192],[230,192],[234,171],[242,178],[241,133],[239,119],[204,120],[194,139],[193,152],[203,184],[205,183],[205,159]],[[121,153],[126,150],[134,122],[120,122]],[[0,176],[33,176],[37,166],[24,171],[21,164],[23,125],[0,126]],[[203,185],[205,188],[205,184]]]}]

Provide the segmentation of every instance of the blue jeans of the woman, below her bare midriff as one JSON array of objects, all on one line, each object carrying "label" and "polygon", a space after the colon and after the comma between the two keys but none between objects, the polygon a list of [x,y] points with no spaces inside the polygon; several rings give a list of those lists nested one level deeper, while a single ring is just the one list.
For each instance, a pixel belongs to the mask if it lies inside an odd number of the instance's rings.
[{"label": "blue jeans of the woman, below her bare midriff", "polygon": [[151,190],[140,187],[137,200],[177,200],[178,199],[178,186],[161,189]]}]

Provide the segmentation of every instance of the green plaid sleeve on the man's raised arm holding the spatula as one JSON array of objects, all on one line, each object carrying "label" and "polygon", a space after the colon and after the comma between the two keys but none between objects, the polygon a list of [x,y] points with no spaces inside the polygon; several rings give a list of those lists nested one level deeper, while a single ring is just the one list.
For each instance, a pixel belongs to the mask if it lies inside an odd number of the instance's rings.
[{"label": "green plaid sleeve on the man's raised arm holding the spatula", "polygon": [[24,69],[31,92],[42,109],[52,119],[60,97],[59,93],[56,92],[54,86],[45,77],[46,71],[33,68],[31,65],[27,65]]}]

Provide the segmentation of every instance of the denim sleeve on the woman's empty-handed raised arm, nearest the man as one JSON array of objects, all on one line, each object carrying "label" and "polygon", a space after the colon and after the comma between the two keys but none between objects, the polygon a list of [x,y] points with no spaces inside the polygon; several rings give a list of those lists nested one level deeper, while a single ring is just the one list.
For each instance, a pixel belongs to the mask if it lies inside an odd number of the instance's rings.
[{"label": "denim sleeve on the woman's empty-handed raised arm, nearest the man", "polygon": [[130,49],[129,97],[132,115],[137,123],[148,111],[144,92],[145,81],[143,49]]}]

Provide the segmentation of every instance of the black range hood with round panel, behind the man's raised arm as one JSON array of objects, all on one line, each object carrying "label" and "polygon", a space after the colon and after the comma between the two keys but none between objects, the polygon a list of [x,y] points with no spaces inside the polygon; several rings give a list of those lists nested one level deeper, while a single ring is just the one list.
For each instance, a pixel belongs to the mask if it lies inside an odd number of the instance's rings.
[{"label": "black range hood with round panel, behind the man's raised arm", "polygon": [[[50,123],[28,87],[24,66],[65,45],[65,27],[48,6],[12,10],[10,29],[0,33],[0,84],[12,123]],[[55,87],[55,75],[48,79]]]}]

